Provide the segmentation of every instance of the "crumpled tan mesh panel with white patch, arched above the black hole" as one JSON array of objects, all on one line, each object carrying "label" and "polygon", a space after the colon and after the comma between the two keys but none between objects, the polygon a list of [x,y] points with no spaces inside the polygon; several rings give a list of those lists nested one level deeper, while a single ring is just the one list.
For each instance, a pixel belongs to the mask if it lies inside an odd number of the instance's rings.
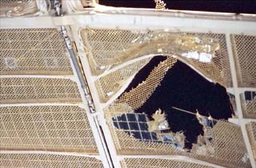
[{"label": "crumpled tan mesh panel with white patch, arched above the black hole", "polygon": [[[94,75],[149,54],[175,55],[210,80],[225,85],[225,72],[219,63],[221,57],[215,57],[220,50],[220,42],[207,35],[195,36],[194,33],[173,33],[169,30],[134,33],[120,29],[82,29],[80,33]],[[111,40],[106,42],[106,39]]]}]

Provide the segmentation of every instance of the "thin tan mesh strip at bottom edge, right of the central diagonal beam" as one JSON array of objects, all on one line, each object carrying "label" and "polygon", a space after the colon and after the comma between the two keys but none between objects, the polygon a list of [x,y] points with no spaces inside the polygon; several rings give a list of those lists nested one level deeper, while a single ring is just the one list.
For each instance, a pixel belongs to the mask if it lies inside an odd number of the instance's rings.
[{"label": "thin tan mesh strip at bottom edge, right of the central diagonal beam", "polygon": [[125,158],[122,168],[213,168],[201,164],[160,158]]}]

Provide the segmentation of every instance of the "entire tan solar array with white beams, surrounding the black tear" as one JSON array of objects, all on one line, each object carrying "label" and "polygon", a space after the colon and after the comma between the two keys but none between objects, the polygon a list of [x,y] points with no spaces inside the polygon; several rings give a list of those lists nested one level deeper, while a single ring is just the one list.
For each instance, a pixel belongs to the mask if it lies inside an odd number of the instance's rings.
[{"label": "entire tan solar array with white beams, surrounding the black tear", "polygon": [[[1,167],[256,167],[255,16],[158,2],[0,1]],[[152,116],[134,112],[178,61],[225,87],[235,113],[234,123],[202,118],[206,134],[190,150],[181,132],[150,131]]]}]

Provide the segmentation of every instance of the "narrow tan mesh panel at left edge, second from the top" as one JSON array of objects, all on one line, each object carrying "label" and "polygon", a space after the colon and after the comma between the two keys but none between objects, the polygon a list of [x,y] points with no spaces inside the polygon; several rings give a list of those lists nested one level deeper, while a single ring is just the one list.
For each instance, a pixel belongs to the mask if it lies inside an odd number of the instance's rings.
[{"label": "narrow tan mesh panel at left edge, second from the top", "polygon": [[77,84],[58,78],[0,78],[0,104],[80,103]]}]

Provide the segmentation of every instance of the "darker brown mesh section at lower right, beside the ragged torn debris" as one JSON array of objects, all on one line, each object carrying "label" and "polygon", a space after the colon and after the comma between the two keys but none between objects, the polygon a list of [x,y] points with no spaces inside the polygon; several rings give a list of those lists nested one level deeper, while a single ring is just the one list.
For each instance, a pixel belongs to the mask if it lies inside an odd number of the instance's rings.
[{"label": "darker brown mesh section at lower right, beside the ragged torn debris", "polygon": [[[218,121],[211,129],[213,140],[211,146],[214,147],[213,156],[195,154],[194,158],[213,162],[217,165],[227,167],[251,167],[250,161],[242,161],[247,153],[246,145],[242,138],[241,128],[234,123]],[[193,154],[192,154],[193,155]]]}]

